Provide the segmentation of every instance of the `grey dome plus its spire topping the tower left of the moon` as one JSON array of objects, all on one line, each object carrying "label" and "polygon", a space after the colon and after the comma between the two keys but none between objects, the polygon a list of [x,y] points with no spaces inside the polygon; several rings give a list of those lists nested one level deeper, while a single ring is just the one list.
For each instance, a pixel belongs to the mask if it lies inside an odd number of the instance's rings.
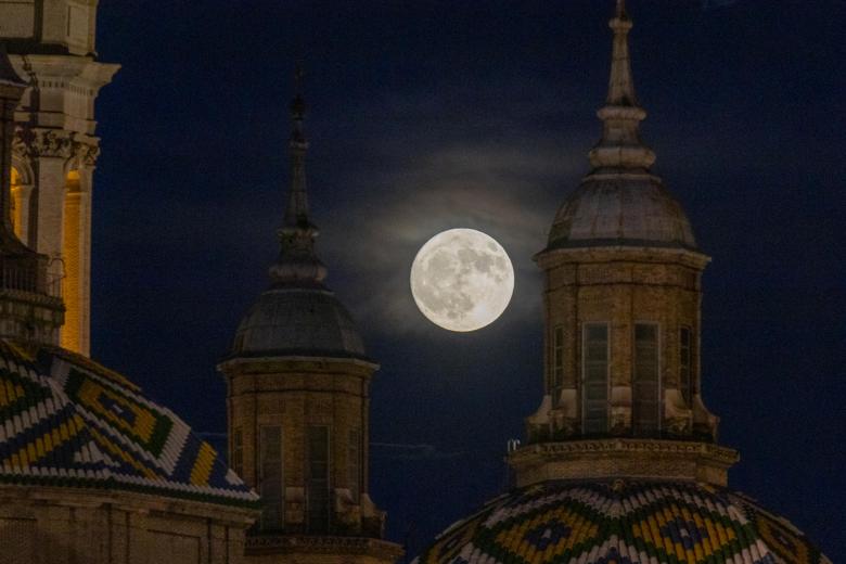
[{"label": "grey dome plus its spire topping the tower left of the moon", "polygon": [[297,94],[291,103],[291,187],[284,221],[278,232],[281,249],[270,267],[270,286],[235,332],[232,357],[367,358],[351,316],[323,284],[326,267],[315,253],[315,239],[320,231],[309,218],[305,114],[305,101]]}]

